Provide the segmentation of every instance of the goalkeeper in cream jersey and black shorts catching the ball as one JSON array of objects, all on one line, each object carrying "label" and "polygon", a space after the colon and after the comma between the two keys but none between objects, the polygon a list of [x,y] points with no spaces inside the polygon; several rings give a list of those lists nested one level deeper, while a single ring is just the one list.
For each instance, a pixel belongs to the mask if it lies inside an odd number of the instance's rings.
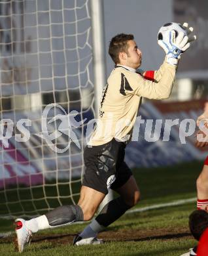
[{"label": "goalkeeper in cream jersey and black shorts catching the ball", "polygon": [[[184,26],[192,32],[188,24]],[[97,233],[139,201],[139,188],[124,161],[125,148],[142,97],[160,100],[171,94],[179,58],[190,47],[190,38],[183,33],[175,37],[175,32],[171,31],[170,45],[167,48],[160,42],[166,57],[158,71],[140,71],[138,74],[136,70],[141,66],[142,53],[133,35],[121,33],[111,39],[109,54],[115,68],[103,89],[97,127],[84,150],[86,171],[80,199],[77,205],[61,205],[29,221],[16,219],[16,241],[20,252],[32,233],[92,219],[110,187],[120,196],[103,207],[92,224],[75,238],[74,244],[99,244]]]}]

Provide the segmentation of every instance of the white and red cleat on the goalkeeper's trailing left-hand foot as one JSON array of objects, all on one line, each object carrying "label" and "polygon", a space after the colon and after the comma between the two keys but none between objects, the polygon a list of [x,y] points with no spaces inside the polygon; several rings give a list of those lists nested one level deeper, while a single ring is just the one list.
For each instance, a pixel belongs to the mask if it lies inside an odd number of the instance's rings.
[{"label": "white and red cleat on the goalkeeper's trailing left-hand foot", "polygon": [[16,244],[18,251],[22,253],[24,245],[31,240],[32,232],[27,228],[26,221],[24,219],[16,219],[15,226]]}]

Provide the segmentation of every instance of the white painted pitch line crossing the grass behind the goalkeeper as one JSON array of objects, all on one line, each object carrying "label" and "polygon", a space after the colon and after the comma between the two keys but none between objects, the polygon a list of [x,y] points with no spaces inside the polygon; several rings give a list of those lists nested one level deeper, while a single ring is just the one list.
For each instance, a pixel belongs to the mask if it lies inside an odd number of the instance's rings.
[{"label": "white painted pitch line crossing the grass behind the goalkeeper", "polygon": [[[186,203],[196,202],[196,200],[197,200],[197,198],[188,198],[188,199],[184,199],[184,200],[175,200],[175,201],[169,202],[169,203],[158,203],[158,204],[154,204],[154,205],[150,205],[150,206],[146,206],[146,207],[141,207],[141,208],[128,210],[124,214],[141,213],[143,211],[149,211],[149,210],[160,209],[160,208],[164,208],[164,207],[177,206],[177,205],[183,205],[183,204],[186,204]],[[89,221],[82,221],[82,222],[78,222],[78,223],[75,223],[75,224],[82,224],[82,223],[89,223]],[[10,232],[0,233],[0,239],[1,238],[7,238],[8,236],[12,236],[13,234],[14,234],[14,231],[13,232],[10,231]]]}]

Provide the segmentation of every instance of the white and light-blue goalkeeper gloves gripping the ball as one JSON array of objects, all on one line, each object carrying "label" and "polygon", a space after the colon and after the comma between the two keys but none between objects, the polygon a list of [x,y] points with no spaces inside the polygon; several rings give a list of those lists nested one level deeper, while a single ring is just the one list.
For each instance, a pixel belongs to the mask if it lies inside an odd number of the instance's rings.
[{"label": "white and light-blue goalkeeper gloves gripping the ball", "polygon": [[175,31],[171,30],[171,32],[169,32],[170,45],[167,45],[163,40],[158,40],[158,45],[160,45],[166,53],[167,62],[174,66],[177,65],[181,54],[190,47],[190,42],[196,40],[196,35],[188,37],[194,29],[192,27],[188,28],[188,23],[184,23],[182,26],[184,30],[186,30],[187,35],[184,35],[183,32],[179,32],[179,35],[175,37]]}]

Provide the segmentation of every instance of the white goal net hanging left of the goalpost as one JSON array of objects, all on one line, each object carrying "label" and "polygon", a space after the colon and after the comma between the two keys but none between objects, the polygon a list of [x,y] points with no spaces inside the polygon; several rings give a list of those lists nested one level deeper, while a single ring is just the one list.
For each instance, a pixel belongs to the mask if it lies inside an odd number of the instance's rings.
[{"label": "white goal net hanging left of the goalpost", "polygon": [[88,0],[0,2],[0,218],[75,203],[94,117]]}]

